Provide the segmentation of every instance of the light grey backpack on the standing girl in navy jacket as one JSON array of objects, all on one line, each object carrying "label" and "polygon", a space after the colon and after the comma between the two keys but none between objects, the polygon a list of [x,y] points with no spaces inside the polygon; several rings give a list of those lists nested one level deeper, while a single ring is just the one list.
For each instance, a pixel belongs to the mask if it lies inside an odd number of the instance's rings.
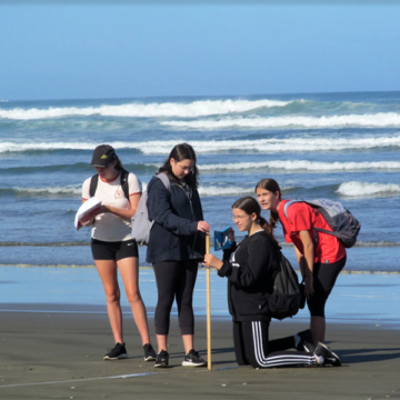
[{"label": "light grey backpack on the standing girl in navy jacket", "polygon": [[[168,189],[168,191],[171,190],[171,182],[170,182],[167,173],[161,172],[161,173],[157,174],[156,177],[161,180],[161,182],[164,184],[164,187]],[[139,246],[148,246],[149,244],[150,231],[154,223],[154,221],[149,220],[147,199],[148,199],[148,192],[147,192],[147,190],[144,190],[139,200],[138,209],[131,219],[132,237],[138,242]]]}]

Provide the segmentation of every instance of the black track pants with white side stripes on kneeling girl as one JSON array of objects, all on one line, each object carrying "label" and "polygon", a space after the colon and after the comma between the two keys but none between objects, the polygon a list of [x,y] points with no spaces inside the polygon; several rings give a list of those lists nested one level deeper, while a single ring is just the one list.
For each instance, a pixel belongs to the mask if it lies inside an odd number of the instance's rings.
[{"label": "black track pants with white side stripes on kneeling girl", "polygon": [[233,322],[234,352],[239,366],[277,368],[314,366],[316,356],[303,351],[283,351],[294,348],[294,338],[268,341],[269,321]]}]

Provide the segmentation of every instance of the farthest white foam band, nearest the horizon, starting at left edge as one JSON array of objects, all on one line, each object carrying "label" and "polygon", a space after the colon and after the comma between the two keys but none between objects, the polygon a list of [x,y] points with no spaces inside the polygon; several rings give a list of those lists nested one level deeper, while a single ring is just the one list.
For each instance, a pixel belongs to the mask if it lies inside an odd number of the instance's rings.
[{"label": "farthest white foam band, nearest the horizon, starting at left edge", "polygon": [[246,112],[259,108],[284,107],[291,101],[279,100],[202,100],[191,103],[149,103],[143,104],[133,102],[121,106],[100,106],[100,107],[50,107],[48,109],[22,109],[1,110],[0,118],[13,120],[36,120],[63,117],[182,117],[192,118],[201,116],[227,114],[234,112]]}]

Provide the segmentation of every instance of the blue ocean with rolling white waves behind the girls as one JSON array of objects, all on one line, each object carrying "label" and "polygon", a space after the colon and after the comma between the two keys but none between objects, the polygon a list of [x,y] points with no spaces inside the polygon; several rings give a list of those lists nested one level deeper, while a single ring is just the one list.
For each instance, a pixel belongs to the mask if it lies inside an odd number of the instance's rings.
[{"label": "blue ocean with rolling white waves behind the girls", "polygon": [[146,187],[183,141],[197,151],[213,230],[232,224],[239,197],[274,178],[283,198],[339,200],[358,218],[348,270],[400,271],[400,92],[2,99],[0,264],[92,264],[89,230],[73,229],[92,150],[113,146]]}]

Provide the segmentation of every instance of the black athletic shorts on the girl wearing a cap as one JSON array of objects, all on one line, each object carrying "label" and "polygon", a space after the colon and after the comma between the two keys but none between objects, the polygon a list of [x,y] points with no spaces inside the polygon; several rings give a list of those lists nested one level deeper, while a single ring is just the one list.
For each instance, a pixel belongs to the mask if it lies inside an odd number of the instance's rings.
[{"label": "black athletic shorts on the girl wearing a cap", "polygon": [[92,239],[91,249],[93,260],[119,261],[130,257],[139,258],[138,243],[133,239],[120,242],[104,242]]}]

